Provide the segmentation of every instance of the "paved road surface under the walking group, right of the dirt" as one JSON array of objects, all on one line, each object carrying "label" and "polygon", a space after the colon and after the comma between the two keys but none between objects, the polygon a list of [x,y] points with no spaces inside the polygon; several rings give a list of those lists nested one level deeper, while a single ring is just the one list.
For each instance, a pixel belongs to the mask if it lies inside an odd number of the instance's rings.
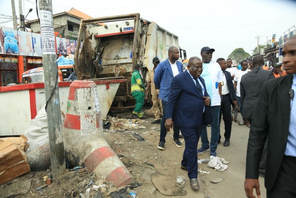
[{"label": "paved road surface under the walking group, right of the dirt", "polygon": [[[241,116],[238,116],[239,120],[242,120]],[[208,135],[210,135],[211,128],[207,127]],[[239,126],[237,123],[232,122],[232,131],[230,138],[230,146],[223,147],[224,142],[224,124],[221,123],[222,142],[217,149],[217,155],[220,158],[225,158],[229,162],[228,169],[222,172],[218,172],[214,169],[207,167],[207,164],[201,164],[203,169],[209,168],[211,172],[207,175],[201,175],[203,182],[204,196],[210,196],[211,198],[244,198],[246,197],[244,191],[244,180],[246,170],[246,152],[249,138],[249,127],[246,125]],[[208,136],[210,137],[210,136]],[[201,146],[199,142],[198,148]],[[206,152],[200,155],[200,158],[209,158],[210,153]],[[211,179],[224,178],[221,183],[211,183]],[[261,187],[261,198],[266,198],[266,190],[264,188],[264,178],[259,177],[259,183]],[[255,193],[255,191],[254,191]]]}]

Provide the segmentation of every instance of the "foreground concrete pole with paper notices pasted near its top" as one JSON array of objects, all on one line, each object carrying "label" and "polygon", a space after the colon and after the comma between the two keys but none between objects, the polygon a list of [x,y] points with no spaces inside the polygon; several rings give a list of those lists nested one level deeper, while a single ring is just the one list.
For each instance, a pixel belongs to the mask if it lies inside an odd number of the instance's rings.
[{"label": "foreground concrete pole with paper notices pasted near its top", "polygon": [[62,119],[58,86],[58,70],[55,53],[55,35],[52,17],[52,0],[39,0],[40,32],[43,57],[43,75],[46,113],[53,179],[66,170]]}]

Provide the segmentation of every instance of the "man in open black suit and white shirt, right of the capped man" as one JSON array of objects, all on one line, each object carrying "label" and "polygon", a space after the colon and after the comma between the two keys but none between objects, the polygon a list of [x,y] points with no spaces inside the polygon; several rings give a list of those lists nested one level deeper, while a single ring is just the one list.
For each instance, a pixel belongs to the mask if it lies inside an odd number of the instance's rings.
[{"label": "man in open black suit and white shirt, right of the capped man", "polygon": [[[230,135],[231,135],[231,105],[236,106],[236,93],[235,89],[231,80],[231,74],[230,72],[226,71],[227,65],[226,61],[223,58],[218,58],[217,63],[219,63],[222,73],[223,73],[223,80],[221,82],[222,85],[222,98],[221,98],[221,106],[220,106],[220,120],[219,125],[221,124],[221,117],[223,114],[223,120],[224,120],[224,137],[225,141],[223,143],[224,147],[228,147],[230,145]],[[221,142],[221,134],[219,130],[219,141]]]}]

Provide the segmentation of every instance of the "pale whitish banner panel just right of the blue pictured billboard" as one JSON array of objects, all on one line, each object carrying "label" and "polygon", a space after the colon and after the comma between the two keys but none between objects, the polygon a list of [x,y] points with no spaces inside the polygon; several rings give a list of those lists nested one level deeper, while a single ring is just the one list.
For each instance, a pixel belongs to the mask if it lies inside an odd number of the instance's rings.
[{"label": "pale whitish banner panel just right of the blue pictured billboard", "polygon": [[31,32],[18,31],[19,55],[33,56],[32,34]]}]

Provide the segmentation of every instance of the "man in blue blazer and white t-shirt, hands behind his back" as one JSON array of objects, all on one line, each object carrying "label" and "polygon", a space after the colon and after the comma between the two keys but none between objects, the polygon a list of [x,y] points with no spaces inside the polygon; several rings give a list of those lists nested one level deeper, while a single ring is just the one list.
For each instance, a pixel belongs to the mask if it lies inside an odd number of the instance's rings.
[{"label": "man in blue blazer and white t-shirt, hands behind his back", "polygon": [[[183,72],[183,64],[178,61],[180,58],[179,49],[175,46],[171,46],[168,51],[169,58],[158,64],[154,71],[154,84],[159,88],[158,97],[162,103],[162,119],[160,123],[160,138],[158,143],[158,149],[164,150],[165,136],[167,130],[164,126],[166,119],[166,108],[169,100],[169,93],[171,89],[172,79],[178,74]],[[174,125],[174,143],[177,147],[182,147],[182,143],[179,140],[180,128]]]}]

